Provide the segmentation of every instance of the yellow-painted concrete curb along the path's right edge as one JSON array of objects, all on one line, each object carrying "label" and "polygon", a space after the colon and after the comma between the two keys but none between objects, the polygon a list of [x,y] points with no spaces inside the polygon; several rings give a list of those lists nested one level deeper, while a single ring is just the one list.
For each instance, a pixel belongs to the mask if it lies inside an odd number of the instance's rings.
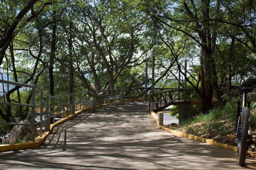
[{"label": "yellow-painted concrete curb along the path's right edge", "polygon": [[[207,144],[223,147],[223,148],[226,148],[226,149],[233,150],[233,151],[237,152],[237,147],[235,147],[235,146],[222,144],[222,143],[213,141],[212,139],[206,139],[206,138],[202,138],[202,137],[199,137],[199,136],[194,136],[193,134],[185,134],[185,133],[182,133],[182,132],[179,132],[179,131],[174,131],[172,129],[166,128],[165,126],[159,126],[158,117],[156,116],[155,112],[151,112],[151,115],[152,115],[154,121],[156,122],[156,124],[158,125],[159,129],[162,129],[164,131],[176,134],[178,136],[183,136],[183,137],[186,137],[186,138],[194,139],[196,141],[200,141],[200,142],[204,142],[204,143],[207,143]],[[251,157],[256,158],[256,155],[255,155],[256,153],[251,152],[251,151],[247,151],[247,153],[249,153],[251,155]]]}]

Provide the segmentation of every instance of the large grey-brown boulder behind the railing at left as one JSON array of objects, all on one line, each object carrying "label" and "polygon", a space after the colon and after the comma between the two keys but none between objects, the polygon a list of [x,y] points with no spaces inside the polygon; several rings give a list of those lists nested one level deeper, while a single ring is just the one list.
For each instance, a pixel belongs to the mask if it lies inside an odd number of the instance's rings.
[{"label": "large grey-brown boulder behind the railing at left", "polygon": [[[22,120],[20,123],[30,123],[27,119]],[[10,144],[14,144],[18,139],[23,139],[28,133],[31,133],[31,126],[15,125],[9,135]]]}]

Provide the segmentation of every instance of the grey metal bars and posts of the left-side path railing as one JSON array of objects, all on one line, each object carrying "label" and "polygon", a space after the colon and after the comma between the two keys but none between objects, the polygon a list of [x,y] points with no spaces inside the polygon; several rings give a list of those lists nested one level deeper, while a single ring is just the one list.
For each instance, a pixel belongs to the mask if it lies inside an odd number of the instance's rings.
[{"label": "grey metal bars and posts of the left-side path railing", "polygon": [[[77,100],[75,100],[75,95],[80,95],[79,97],[79,104],[80,104],[80,109],[81,109],[81,104],[82,104],[82,94],[88,95],[88,94],[94,94],[93,97],[94,101],[95,101],[95,106],[96,106],[96,91],[86,91],[86,92],[77,92],[77,93],[73,93],[73,94],[63,94],[63,95],[58,95],[58,96],[47,96],[45,93],[43,93],[42,91],[40,91],[40,89],[38,89],[35,85],[30,85],[30,84],[24,84],[24,83],[18,83],[18,82],[11,82],[11,81],[6,81],[6,80],[0,80],[0,83],[3,84],[8,84],[8,85],[16,85],[16,86],[20,86],[20,87],[26,87],[26,88],[32,88],[32,97],[31,97],[31,104],[20,104],[20,103],[9,103],[9,102],[0,102],[0,105],[13,105],[13,106],[23,106],[23,107],[31,107],[32,108],[32,122],[31,123],[17,123],[17,122],[0,122],[0,125],[25,125],[25,126],[31,126],[32,128],[32,142],[35,141],[35,128],[36,125],[40,124],[40,137],[42,137],[43,134],[43,124],[45,127],[45,131],[50,131],[50,119],[54,120],[54,114],[55,111],[54,109],[58,106],[63,106],[64,105],[68,105],[70,104],[70,114],[74,114],[75,113],[75,103]],[[3,89],[4,90],[4,89]],[[135,89],[136,90],[136,89]],[[98,94],[100,94],[100,92],[102,92],[103,95],[100,95],[102,97],[107,96],[107,92],[110,90],[102,90],[102,91],[97,91]],[[123,93],[124,93],[124,89],[123,88],[119,88],[119,89],[114,89],[115,92],[119,91],[119,94],[114,94],[114,95],[119,95],[122,96],[123,99]],[[36,96],[36,92],[40,93],[40,105],[36,105],[36,101],[35,101],[35,96]],[[72,100],[71,101],[64,101],[62,103],[55,103],[55,99],[58,97],[68,97],[71,96]],[[44,105],[44,98],[45,98],[45,104]],[[53,105],[49,106],[49,99],[52,100]],[[104,98],[102,99],[104,102]],[[39,122],[35,122],[35,108],[40,108],[40,121]],[[45,109],[45,110],[44,110]],[[51,109],[51,112],[49,112],[49,109]],[[43,113],[45,112],[46,118],[43,119]],[[51,113],[51,115],[50,115]]]}]

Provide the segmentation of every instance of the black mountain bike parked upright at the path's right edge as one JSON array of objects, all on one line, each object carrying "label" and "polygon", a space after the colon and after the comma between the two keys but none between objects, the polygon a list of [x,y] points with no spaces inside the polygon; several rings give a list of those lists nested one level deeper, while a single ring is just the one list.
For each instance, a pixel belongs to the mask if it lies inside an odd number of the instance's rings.
[{"label": "black mountain bike parked upright at the path's right edge", "polygon": [[[243,92],[243,98],[241,101],[237,102],[237,111],[236,111],[236,128],[235,128],[235,137],[237,141],[237,154],[239,158],[239,165],[245,165],[245,157],[247,150],[251,147],[251,144],[254,144],[253,137],[251,133],[251,124],[250,124],[250,105],[251,101],[247,100],[247,93],[250,93],[256,90],[256,87],[239,87],[233,85],[223,85],[219,86],[226,88],[237,88]],[[242,103],[242,107],[241,107]]]}]

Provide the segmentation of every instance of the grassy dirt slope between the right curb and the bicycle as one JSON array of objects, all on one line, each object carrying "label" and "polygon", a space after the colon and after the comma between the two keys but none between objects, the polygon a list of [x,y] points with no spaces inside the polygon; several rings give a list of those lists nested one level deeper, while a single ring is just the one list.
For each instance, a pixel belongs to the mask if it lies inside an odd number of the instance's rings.
[{"label": "grassy dirt slope between the right curb and the bicycle", "polygon": [[[256,104],[255,104],[256,108]],[[252,114],[254,124],[256,116]],[[228,103],[222,109],[215,108],[206,114],[199,114],[181,122],[181,130],[187,134],[194,134],[205,138],[217,135],[227,136],[235,132],[236,106]]]}]

